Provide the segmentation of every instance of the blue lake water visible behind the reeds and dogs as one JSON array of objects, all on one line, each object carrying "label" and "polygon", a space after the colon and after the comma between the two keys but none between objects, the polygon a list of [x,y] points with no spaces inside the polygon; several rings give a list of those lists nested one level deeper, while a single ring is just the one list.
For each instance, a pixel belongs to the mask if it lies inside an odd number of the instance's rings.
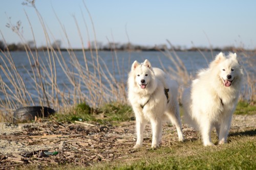
[{"label": "blue lake water visible behind the reeds and dogs", "polygon": [[[182,60],[186,70],[190,75],[195,75],[198,69],[207,67],[208,65],[207,62],[212,61],[212,59],[218,53],[219,52],[213,52],[212,54],[211,52],[203,52],[203,53],[176,52],[177,56],[179,56],[179,58]],[[61,52],[61,54],[62,54],[62,60],[58,61],[55,57],[55,65],[56,65],[56,72],[57,72],[56,77],[57,77],[58,88],[60,90],[63,90],[65,88],[72,88],[72,84],[70,83],[70,81],[67,78],[67,75],[63,71],[63,69],[66,70],[66,68],[61,68],[61,64],[65,62],[67,64],[67,68],[69,68],[70,70],[73,70],[74,72],[77,72],[77,74],[79,74],[79,71],[77,71],[76,64],[75,64],[76,62],[79,62],[81,66],[83,66],[84,70],[86,70],[86,67],[84,64],[84,56],[82,51],[76,51],[74,52],[74,54],[71,54],[71,55],[68,52]],[[175,56],[173,52],[170,52],[170,54],[172,56]],[[10,68],[10,63],[8,62],[8,59],[3,54],[0,54],[0,56],[1,56],[0,63],[2,64],[2,66],[5,69],[7,69],[8,67]],[[34,80],[31,78],[31,75],[33,75],[32,69],[35,69],[35,67],[31,67],[31,64],[28,60],[26,52],[11,52],[11,56],[15,63],[17,71],[19,72],[20,76],[22,76],[26,84],[26,88],[28,89],[29,92],[36,95],[37,93],[33,85]],[[40,65],[50,70],[49,69],[50,59],[48,57],[48,54],[46,52],[39,52],[38,56],[39,56]],[[59,54],[58,56],[60,57]],[[92,56],[94,60],[92,59]],[[86,52],[86,59],[88,62],[89,70],[91,72],[94,72],[94,71],[97,72],[97,68],[92,66],[93,62],[94,62],[94,65],[96,65],[95,56],[96,56],[95,52],[93,52],[93,54],[91,54],[90,52]],[[169,67],[176,69],[174,62],[161,52],[116,52],[116,53],[115,52],[99,52],[98,56],[99,56],[99,63],[101,65],[100,69],[106,70],[106,68],[104,67],[104,64],[105,64],[105,66],[108,67],[109,69],[109,74],[114,76],[117,82],[126,82],[127,74],[130,71],[131,65],[135,60],[139,62],[143,62],[145,59],[148,59],[150,60],[150,62],[154,67],[160,67],[166,70],[170,70]],[[7,65],[5,65],[4,61],[6,61]],[[32,65],[33,64],[34,62],[32,61]],[[10,72],[12,72],[12,70],[10,70]],[[107,72],[107,71],[103,71],[103,72]],[[172,75],[172,71],[169,71],[169,73]],[[0,69],[0,74],[3,79],[3,82],[6,83],[6,86],[10,87],[13,90],[14,87],[12,86],[12,83],[11,83],[12,80],[9,80],[6,77],[5,72],[2,69]],[[48,75],[44,75],[44,77],[46,77],[47,79]],[[10,78],[10,79],[13,79],[13,78]],[[102,82],[108,83],[104,80],[102,80]],[[1,90],[2,89],[0,88],[0,98],[2,100],[5,100],[6,96],[4,95],[4,92]],[[7,89],[7,91],[9,90]]]}]

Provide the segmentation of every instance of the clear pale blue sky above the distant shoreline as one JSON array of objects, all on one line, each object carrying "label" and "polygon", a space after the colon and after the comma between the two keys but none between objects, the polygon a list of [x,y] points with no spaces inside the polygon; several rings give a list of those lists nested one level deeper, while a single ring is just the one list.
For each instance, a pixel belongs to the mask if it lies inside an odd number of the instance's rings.
[{"label": "clear pale blue sky above the distant shoreline", "polygon": [[[35,0],[38,13],[33,7],[22,5],[23,2],[26,1],[0,0],[0,31],[7,43],[33,40],[32,28],[37,46],[45,45],[44,27],[37,15],[40,14],[50,41],[61,40],[62,47],[68,46],[68,40],[73,48],[82,44],[87,47],[89,41],[96,39],[103,44],[131,42],[154,46],[167,44],[169,40],[186,48],[210,45],[256,48],[253,0]],[[15,26],[17,21],[21,22],[22,38],[6,27],[7,23]],[[0,35],[0,40],[3,37]]]}]

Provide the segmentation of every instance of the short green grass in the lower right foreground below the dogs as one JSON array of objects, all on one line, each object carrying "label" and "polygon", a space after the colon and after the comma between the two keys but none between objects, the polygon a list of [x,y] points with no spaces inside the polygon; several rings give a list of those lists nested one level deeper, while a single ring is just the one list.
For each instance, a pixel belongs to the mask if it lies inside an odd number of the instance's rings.
[{"label": "short green grass in the lower right foreground below the dogs", "polygon": [[255,169],[255,142],[255,137],[246,137],[214,148],[202,147],[197,141],[186,142],[172,148],[142,151],[139,160],[102,169]]}]

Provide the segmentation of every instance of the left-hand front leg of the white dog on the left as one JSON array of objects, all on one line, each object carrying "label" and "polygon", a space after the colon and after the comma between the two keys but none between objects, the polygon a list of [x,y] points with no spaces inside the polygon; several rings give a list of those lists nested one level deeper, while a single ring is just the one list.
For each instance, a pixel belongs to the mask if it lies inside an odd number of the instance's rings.
[{"label": "left-hand front leg of the white dog on the left", "polygon": [[134,149],[142,146],[143,132],[145,130],[145,124],[146,124],[146,121],[144,120],[143,117],[136,116],[137,141],[136,141],[135,146],[133,147]]}]

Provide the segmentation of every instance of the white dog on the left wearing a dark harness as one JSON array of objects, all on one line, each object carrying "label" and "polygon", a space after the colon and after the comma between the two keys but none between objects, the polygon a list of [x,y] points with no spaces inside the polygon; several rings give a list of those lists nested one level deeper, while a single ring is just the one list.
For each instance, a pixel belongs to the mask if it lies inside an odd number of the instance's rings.
[{"label": "white dog on the left wearing a dark harness", "polygon": [[179,105],[178,83],[172,81],[150,61],[134,61],[128,78],[128,98],[136,116],[137,141],[134,148],[142,146],[143,131],[147,121],[152,125],[152,148],[159,147],[162,122],[170,119],[176,126],[179,141],[183,141]]}]

